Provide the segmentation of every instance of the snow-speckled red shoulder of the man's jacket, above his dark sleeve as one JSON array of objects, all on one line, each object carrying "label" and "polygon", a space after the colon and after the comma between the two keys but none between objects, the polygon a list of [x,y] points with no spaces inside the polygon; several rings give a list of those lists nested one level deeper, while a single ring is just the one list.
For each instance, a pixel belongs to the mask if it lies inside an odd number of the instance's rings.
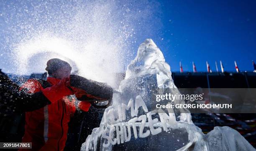
[{"label": "snow-speckled red shoulder of the man's jacket, above his dark sleeve", "polygon": [[20,87],[20,90],[22,89],[28,89],[28,93],[36,93],[42,91],[43,87],[36,79],[28,79],[28,81]]}]

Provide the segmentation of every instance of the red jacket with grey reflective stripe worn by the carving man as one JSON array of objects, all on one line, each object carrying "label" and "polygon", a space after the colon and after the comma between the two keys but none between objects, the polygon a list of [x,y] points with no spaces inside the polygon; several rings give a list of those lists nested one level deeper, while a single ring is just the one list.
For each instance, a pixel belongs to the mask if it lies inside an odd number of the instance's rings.
[{"label": "red jacket with grey reflective stripe worn by the carving man", "polygon": [[[59,79],[47,78],[51,85],[60,82]],[[44,88],[36,79],[29,79],[21,89],[29,89],[30,93],[42,91]],[[70,98],[70,97],[69,97]],[[74,114],[75,99],[63,97],[44,108],[26,112],[25,134],[23,142],[32,142],[34,151],[63,151],[67,141],[68,122],[70,116]],[[90,103],[79,102],[79,107],[83,111],[88,111]],[[26,149],[20,149],[24,151]]]}]

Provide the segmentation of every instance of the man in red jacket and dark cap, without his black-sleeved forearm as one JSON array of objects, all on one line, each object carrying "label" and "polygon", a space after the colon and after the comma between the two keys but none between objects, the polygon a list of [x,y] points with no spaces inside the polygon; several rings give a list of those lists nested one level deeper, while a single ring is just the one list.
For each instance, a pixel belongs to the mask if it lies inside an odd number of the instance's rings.
[{"label": "man in red jacket and dark cap, without his black-sleeved forearm", "polygon": [[[34,151],[62,151],[67,140],[68,122],[76,111],[74,94],[70,88],[70,65],[61,59],[50,59],[46,71],[49,77],[46,81],[29,79],[21,90],[27,89],[30,93],[43,92],[51,104],[44,108],[26,112],[26,125],[23,142],[32,142]],[[59,84],[59,87],[58,87]],[[56,85],[59,89],[52,89]],[[48,89],[48,91],[46,91]],[[61,99],[59,96],[65,96]],[[90,103],[80,101],[79,108],[88,111]],[[26,149],[20,149],[23,151]]]}]

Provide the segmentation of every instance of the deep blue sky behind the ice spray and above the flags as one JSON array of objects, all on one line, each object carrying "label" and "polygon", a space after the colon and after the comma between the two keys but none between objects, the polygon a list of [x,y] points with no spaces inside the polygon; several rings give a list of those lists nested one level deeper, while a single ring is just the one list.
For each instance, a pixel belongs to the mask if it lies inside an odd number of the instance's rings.
[{"label": "deep blue sky behind the ice spray and above the flags", "polygon": [[[130,3],[136,4],[136,2]],[[145,5],[147,4],[145,3]],[[255,0],[167,0],[158,1],[156,7],[155,3],[152,5],[150,1],[148,5],[151,5],[151,18],[142,18],[146,24],[151,24],[151,26],[148,31],[146,31],[147,29],[142,30],[143,27],[138,26],[137,34],[133,36],[137,42],[131,45],[132,51],[136,52],[139,43],[144,39],[152,38],[163,52],[172,71],[179,71],[179,61],[182,62],[184,71],[192,71],[192,61],[195,62],[198,71],[207,70],[206,61],[213,71],[215,71],[215,61],[217,61],[220,70],[220,60],[222,60],[226,71],[235,71],[234,60],[237,61],[241,71],[253,69],[251,60],[256,61]],[[131,7],[133,6],[131,5]],[[19,11],[23,11],[22,15],[24,15],[26,14],[24,11],[30,7],[32,6],[29,5]],[[136,7],[141,9],[145,6],[141,2]],[[9,11],[5,11],[5,14],[13,13],[11,9],[7,8],[6,2],[2,3],[0,8],[1,14],[5,10]],[[49,9],[49,7],[44,9]],[[49,12],[54,13],[54,9]],[[42,11],[42,14],[43,16],[47,15],[45,10]],[[18,15],[13,14],[13,16]],[[21,17],[12,16],[11,23],[5,22],[6,18],[4,17],[6,16],[0,16],[0,37],[2,37],[0,38],[0,59],[4,60],[0,63],[0,68],[5,70],[10,67],[12,62],[9,58],[10,51],[8,51],[10,49],[8,45],[11,43],[9,41],[12,39],[8,38],[7,40],[6,37],[15,37],[10,36],[12,33],[9,31],[12,30],[9,26],[15,25],[15,22],[21,24],[30,17],[28,15],[24,19],[22,15]],[[38,16],[41,20],[40,14]],[[135,19],[133,21],[136,22]],[[42,23],[45,22],[42,21]],[[28,30],[28,28],[23,30]],[[26,33],[26,31],[20,33]]]}]

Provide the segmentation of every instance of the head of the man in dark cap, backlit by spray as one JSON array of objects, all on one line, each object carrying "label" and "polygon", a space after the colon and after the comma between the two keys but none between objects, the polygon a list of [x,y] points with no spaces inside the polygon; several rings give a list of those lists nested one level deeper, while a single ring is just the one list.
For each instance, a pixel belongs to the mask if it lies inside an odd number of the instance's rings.
[{"label": "head of the man in dark cap, backlit by spray", "polygon": [[51,77],[64,79],[70,76],[72,67],[69,63],[61,59],[54,58],[48,60],[47,67],[45,69]]}]

